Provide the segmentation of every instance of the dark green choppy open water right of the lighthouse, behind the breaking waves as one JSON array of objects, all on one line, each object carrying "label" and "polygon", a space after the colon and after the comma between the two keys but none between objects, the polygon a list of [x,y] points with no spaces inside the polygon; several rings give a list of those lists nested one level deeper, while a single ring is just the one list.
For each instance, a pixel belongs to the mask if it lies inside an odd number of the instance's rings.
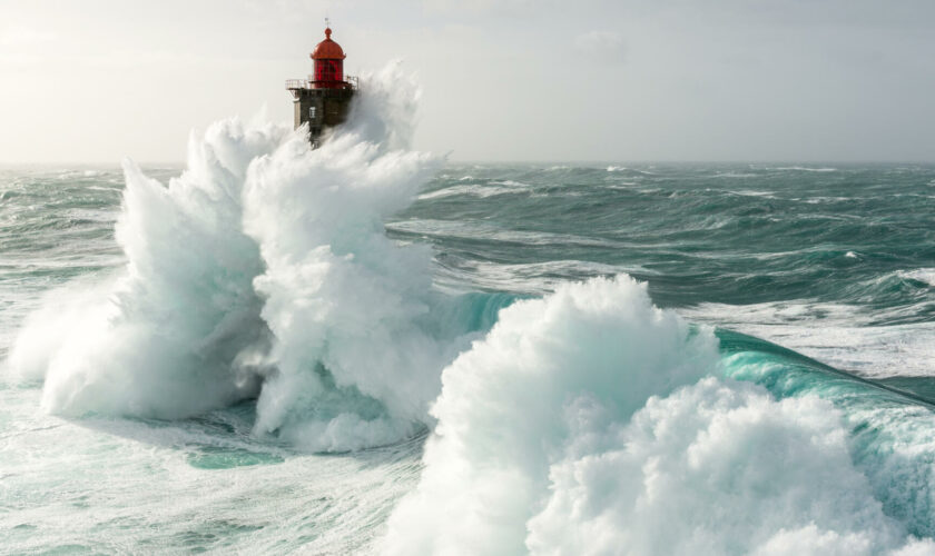
[{"label": "dark green choppy open water right of the lighthouse, behind the breaking waves", "polygon": [[652,300],[864,376],[935,357],[935,167],[457,166],[387,228],[435,280],[541,294],[627,272]]}]

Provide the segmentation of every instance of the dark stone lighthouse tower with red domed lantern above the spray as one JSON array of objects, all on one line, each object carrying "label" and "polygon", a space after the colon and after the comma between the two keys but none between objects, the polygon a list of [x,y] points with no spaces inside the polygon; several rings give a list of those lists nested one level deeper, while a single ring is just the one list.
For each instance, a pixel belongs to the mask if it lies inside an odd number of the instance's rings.
[{"label": "dark stone lighthouse tower with red domed lantern above the spray", "polygon": [[325,40],[312,52],[314,72],[308,79],[289,79],[286,89],[295,105],[295,127],[308,123],[312,148],[318,146],[318,138],[326,128],[342,123],[351,108],[351,99],[357,89],[357,80],[344,76],[344,50],[331,38],[332,30],[325,28]]}]

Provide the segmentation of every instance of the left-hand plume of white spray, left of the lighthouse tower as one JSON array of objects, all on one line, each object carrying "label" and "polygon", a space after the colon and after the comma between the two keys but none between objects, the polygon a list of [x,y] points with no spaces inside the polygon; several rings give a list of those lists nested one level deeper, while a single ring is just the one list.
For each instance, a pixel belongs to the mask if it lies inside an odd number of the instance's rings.
[{"label": "left-hand plume of white spray, left of the lighthouse tower", "polygon": [[125,161],[117,241],[126,268],[112,287],[72,289],[72,302],[31,319],[13,349],[14,369],[45,376],[47,410],[177,418],[256,395],[257,369],[246,361],[268,330],[240,189],[249,160],[287,131],[211,126],[190,139],[188,170],[168,187]]}]

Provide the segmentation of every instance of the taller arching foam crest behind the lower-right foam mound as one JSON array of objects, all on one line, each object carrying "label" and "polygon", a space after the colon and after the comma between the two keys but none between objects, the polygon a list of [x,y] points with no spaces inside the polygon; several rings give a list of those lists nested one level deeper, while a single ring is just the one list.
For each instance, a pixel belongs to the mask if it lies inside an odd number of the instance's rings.
[{"label": "taller arching foam crest behind the lower-right foam mound", "polygon": [[622,276],[561,286],[504,309],[447,367],[419,489],[391,518],[393,554],[516,554],[572,436],[560,408],[590,396],[626,421],[656,394],[717,366],[710,331],[652,307]]}]

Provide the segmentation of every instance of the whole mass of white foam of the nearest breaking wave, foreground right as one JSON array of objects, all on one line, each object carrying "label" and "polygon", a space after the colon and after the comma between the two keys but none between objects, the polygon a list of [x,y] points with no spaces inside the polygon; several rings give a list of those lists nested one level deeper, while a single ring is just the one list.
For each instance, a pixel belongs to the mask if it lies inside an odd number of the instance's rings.
[{"label": "whole mass of white foam of the nearest breaking wave, foreground right", "polygon": [[387,554],[935,549],[884,513],[840,414],[725,381],[710,330],[627,277],[501,311],[443,373]]}]

